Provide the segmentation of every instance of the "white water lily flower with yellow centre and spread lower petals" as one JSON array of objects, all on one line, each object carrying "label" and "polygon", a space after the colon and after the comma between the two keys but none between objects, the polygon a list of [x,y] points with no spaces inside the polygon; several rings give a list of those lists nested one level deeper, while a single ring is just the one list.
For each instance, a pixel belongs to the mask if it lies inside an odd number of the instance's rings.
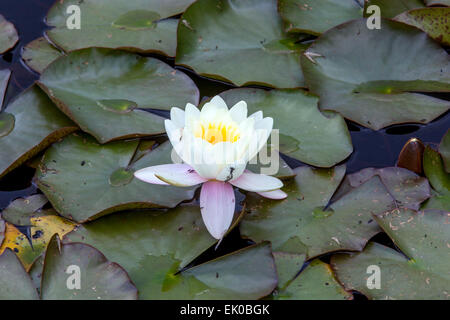
[{"label": "white water lily flower with yellow centre and spread lower petals", "polygon": [[283,183],[272,176],[246,170],[272,131],[273,119],[258,111],[247,117],[245,101],[228,109],[215,96],[200,111],[188,103],[185,111],[172,108],[165,128],[182,163],[157,165],[135,172],[152,184],[191,187],[203,184],[200,210],[210,234],[222,239],[233,220],[233,186],[270,199],[284,199]]}]

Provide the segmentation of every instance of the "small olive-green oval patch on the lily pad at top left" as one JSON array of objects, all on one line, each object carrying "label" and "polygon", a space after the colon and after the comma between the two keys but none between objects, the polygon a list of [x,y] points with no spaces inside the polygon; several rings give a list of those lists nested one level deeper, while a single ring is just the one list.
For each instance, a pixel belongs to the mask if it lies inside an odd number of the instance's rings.
[{"label": "small olive-green oval patch on the lily pad at top left", "polygon": [[116,28],[144,30],[155,28],[155,21],[159,19],[161,19],[161,16],[157,12],[148,10],[133,10],[121,15],[112,23],[112,25]]}]

